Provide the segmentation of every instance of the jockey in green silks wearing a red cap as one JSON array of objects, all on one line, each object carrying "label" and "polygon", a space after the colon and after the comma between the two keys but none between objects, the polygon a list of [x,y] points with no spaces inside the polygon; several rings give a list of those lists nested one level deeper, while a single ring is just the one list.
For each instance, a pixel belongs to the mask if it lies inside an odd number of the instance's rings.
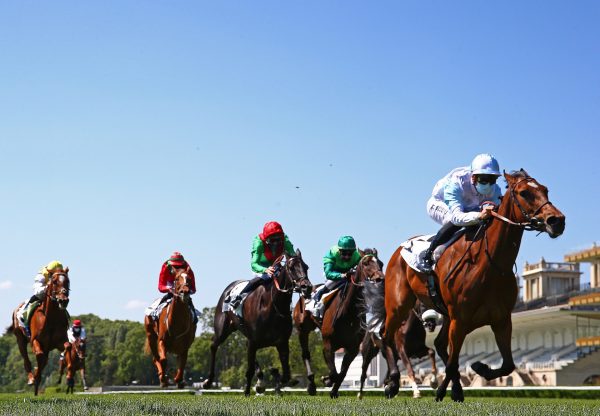
[{"label": "jockey in green silks wearing a red cap", "polygon": [[256,289],[261,284],[271,280],[276,269],[273,263],[284,253],[293,253],[294,246],[288,236],[283,232],[281,224],[269,221],[263,227],[263,232],[254,237],[252,243],[252,260],[250,267],[254,272],[254,279],[229,304],[237,308],[244,294]]}]

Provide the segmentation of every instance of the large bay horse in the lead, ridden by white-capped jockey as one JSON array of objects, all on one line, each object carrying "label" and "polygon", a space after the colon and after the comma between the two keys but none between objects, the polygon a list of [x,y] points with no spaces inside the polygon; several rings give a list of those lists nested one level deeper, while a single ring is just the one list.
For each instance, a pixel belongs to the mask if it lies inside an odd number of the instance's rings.
[{"label": "large bay horse in the lead, ridden by white-capped jockey", "polygon": [[[490,325],[502,365],[491,369],[476,362],[473,371],[486,380],[509,375],[515,364],[511,351],[511,312],[519,288],[512,270],[525,230],[546,232],[551,238],[565,229],[565,216],[548,199],[548,188],[521,169],[505,173],[507,191],[497,212],[483,223],[469,241],[462,236],[442,254],[435,269],[435,279],[447,306],[448,316],[435,340],[438,355],[446,365],[446,375],[436,392],[441,401],[452,381],[452,400],[464,401],[458,358],[467,334]],[[399,389],[399,372],[393,352],[396,331],[407,319],[419,299],[427,307],[433,304],[428,296],[427,275],[413,270],[402,258],[398,248],[386,270],[385,325],[383,328],[385,357],[390,370],[386,397],[394,397]]]}]

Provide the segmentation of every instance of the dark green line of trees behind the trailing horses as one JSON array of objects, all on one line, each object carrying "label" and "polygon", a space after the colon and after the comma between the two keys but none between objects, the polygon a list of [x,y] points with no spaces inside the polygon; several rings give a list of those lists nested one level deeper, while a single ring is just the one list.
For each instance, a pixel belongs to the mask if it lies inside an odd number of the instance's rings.
[{"label": "dark green line of trees behind the trailing horses", "polygon": [[[214,309],[204,308],[200,315],[196,339],[190,348],[186,366],[185,378],[188,384],[201,381],[208,375]],[[144,352],[146,332],[142,323],[102,319],[93,314],[73,316],[72,319],[81,319],[87,332],[88,385],[159,384],[152,358]],[[217,382],[222,386],[231,388],[243,386],[246,372],[246,345],[246,338],[240,332],[234,332],[219,347],[216,371]],[[321,334],[315,332],[310,337],[310,351],[313,371],[317,375],[327,374],[321,346]],[[28,349],[32,363],[35,365],[35,357],[31,354],[31,348]],[[263,370],[271,367],[281,370],[279,356],[274,347],[260,350],[257,360]],[[58,362],[59,352],[52,351],[42,375],[43,387],[55,385],[58,380]],[[293,377],[300,382],[300,385],[305,385],[305,369],[295,331],[290,338],[290,366]],[[169,368],[170,370],[175,368],[174,357],[169,357]],[[268,380],[270,372],[264,371],[264,373]],[[76,382],[80,383],[79,375],[76,376]],[[19,354],[15,337],[12,333],[6,333],[0,337],[0,391],[25,390],[26,383],[23,359]]]}]

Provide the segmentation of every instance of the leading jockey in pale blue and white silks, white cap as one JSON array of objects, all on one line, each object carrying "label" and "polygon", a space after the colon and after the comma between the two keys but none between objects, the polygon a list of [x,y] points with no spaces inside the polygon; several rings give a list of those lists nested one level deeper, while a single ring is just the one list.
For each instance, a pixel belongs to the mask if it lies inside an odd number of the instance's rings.
[{"label": "leading jockey in pale blue and white silks, white cap", "polygon": [[458,229],[480,224],[491,216],[493,205],[500,204],[502,196],[496,184],[499,176],[496,158],[483,153],[475,156],[471,166],[456,168],[435,184],[427,201],[427,213],[442,228],[425,252],[420,265],[423,271],[431,272],[434,250]]}]

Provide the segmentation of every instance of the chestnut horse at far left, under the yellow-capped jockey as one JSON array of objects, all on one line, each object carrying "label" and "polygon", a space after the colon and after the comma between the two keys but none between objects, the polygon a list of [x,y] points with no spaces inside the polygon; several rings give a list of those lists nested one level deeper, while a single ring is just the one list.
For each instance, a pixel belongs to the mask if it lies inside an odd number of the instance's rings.
[{"label": "chestnut horse at far left, under the yellow-capped jockey", "polygon": [[[67,330],[69,328],[69,315],[67,305],[69,304],[69,268],[52,274],[46,286],[45,297],[41,304],[32,312],[30,320],[31,338],[28,340],[24,329],[19,325],[17,312],[12,315],[12,325],[8,331],[12,331],[17,338],[19,352],[23,357],[25,371],[27,372],[27,384],[34,386],[34,394],[37,396],[42,371],[48,363],[48,354],[53,349],[64,350],[67,342]],[[7,331],[7,332],[8,332]],[[34,372],[31,369],[31,361],[27,354],[27,342],[31,344],[31,350],[35,354],[37,367]]]}]

